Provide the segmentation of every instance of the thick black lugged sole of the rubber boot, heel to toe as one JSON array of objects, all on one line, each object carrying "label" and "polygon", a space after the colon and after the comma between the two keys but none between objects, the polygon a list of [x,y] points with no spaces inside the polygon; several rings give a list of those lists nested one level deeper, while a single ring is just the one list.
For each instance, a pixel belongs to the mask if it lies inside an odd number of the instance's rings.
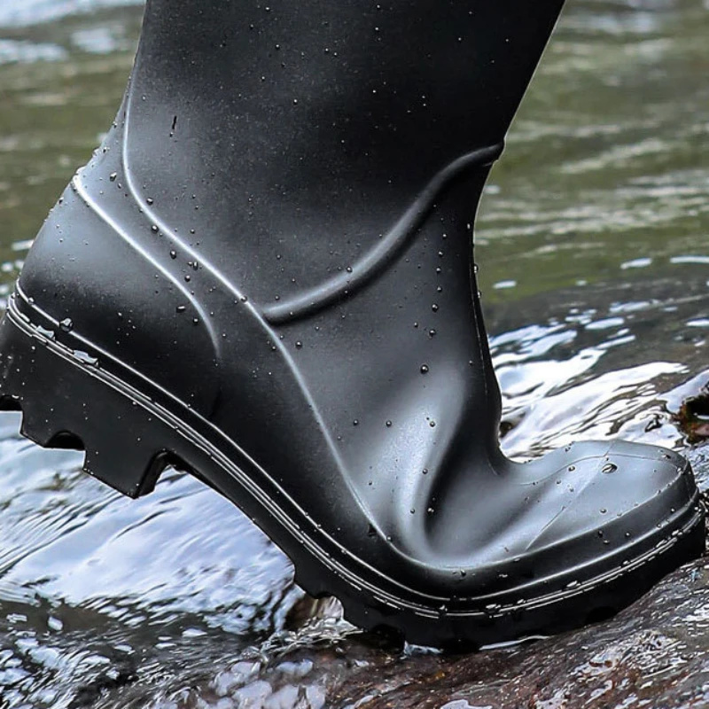
[{"label": "thick black lugged sole of the rubber boot, heel to toe", "polygon": [[[0,409],[21,411],[20,432],[44,448],[84,450],[83,470],[130,497],[151,492],[168,465],[191,472],[236,503],[284,550],[301,588],[316,597],[337,596],[345,617],[366,630],[393,631],[409,643],[436,647],[547,635],[611,617],[705,548],[697,491],[666,520],[661,534],[649,532],[648,538],[658,537],[650,551],[565,591],[508,606],[471,601],[470,611],[448,610],[432,598],[405,599],[347,549],[324,539],[268,474],[205,419],[199,432],[185,420],[196,420],[194,412],[184,408],[183,416],[175,416],[102,362],[59,342],[56,328],[31,322],[13,296],[0,322]],[[360,569],[369,572],[367,578]]]}]

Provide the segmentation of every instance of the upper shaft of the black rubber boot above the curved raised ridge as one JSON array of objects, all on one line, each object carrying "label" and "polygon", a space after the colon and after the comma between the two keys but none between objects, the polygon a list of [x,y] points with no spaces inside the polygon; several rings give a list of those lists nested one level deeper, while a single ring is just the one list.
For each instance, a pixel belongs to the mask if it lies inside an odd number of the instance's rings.
[{"label": "upper shaft of the black rubber boot above the curved raised ridge", "polygon": [[254,300],[315,288],[503,141],[561,4],[149,0],[127,167]]}]

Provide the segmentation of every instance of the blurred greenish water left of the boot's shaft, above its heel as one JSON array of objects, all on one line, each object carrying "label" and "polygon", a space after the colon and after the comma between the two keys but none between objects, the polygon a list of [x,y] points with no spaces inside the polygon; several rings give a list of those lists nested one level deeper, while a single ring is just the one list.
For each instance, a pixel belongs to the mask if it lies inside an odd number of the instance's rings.
[{"label": "blurred greenish water left of the boot's shaft, above its heel", "polygon": [[14,280],[18,242],[34,238],[113,121],[141,16],[136,7],[0,28],[0,60],[3,47],[19,58],[0,64],[0,283]]}]

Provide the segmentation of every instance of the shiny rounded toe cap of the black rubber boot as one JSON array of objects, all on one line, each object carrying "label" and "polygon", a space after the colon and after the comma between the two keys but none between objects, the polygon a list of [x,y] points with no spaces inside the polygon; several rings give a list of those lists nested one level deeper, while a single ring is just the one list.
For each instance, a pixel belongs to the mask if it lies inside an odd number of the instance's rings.
[{"label": "shiny rounded toe cap of the black rubber boot", "polygon": [[561,452],[565,464],[538,493],[544,511],[518,556],[518,594],[520,587],[538,596],[600,583],[639,568],[697,517],[697,487],[682,456],[624,441],[575,448]]}]

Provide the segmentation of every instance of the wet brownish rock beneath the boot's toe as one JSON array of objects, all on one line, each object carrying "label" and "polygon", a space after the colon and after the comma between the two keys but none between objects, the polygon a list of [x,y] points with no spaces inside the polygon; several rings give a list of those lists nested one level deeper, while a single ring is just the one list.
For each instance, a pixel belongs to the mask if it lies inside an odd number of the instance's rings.
[{"label": "wet brownish rock beneath the boot's toe", "polygon": [[[353,635],[286,657],[297,664],[303,653],[312,663],[308,689],[293,682],[264,698],[264,707],[284,706],[286,697],[293,702],[288,706],[308,706],[296,697],[314,687],[324,705],[343,709],[703,705],[709,700],[709,565],[700,559],[684,566],[614,619],[509,648],[462,656],[383,651]],[[253,691],[262,682],[253,682]]]}]

